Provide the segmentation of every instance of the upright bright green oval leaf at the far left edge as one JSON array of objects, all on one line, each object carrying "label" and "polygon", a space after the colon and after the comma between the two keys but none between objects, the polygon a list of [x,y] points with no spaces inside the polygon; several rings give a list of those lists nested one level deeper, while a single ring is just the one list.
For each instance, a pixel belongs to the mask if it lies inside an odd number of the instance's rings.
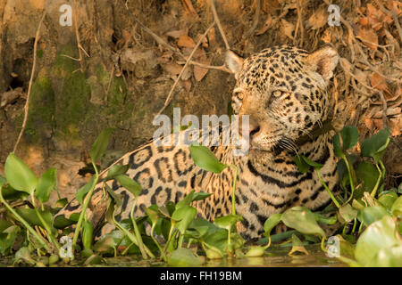
[{"label": "upright bright green oval leaf at the far left edge", "polygon": [[13,153],[10,153],[5,160],[4,173],[5,179],[13,189],[27,192],[29,195],[38,185],[38,177]]}]

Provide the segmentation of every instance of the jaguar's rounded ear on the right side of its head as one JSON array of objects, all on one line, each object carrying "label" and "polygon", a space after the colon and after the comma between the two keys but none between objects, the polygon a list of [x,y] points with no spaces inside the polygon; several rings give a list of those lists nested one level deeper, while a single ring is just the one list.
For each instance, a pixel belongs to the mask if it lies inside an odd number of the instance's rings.
[{"label": "jaguar's rounded ear on the right side of its head", "polygon": [[322,76],[325,82],[328,82],[333,76],[333,70],[338,65],[339,55],[333,47],[324,46],[307,56],[306,61],[315,72]]}]

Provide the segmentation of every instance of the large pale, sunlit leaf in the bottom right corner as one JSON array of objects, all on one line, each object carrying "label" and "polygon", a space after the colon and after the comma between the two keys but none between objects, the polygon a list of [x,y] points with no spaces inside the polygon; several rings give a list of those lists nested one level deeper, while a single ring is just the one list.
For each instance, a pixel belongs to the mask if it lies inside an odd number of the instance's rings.
[{"label": "large pale, sunlit leaf in the bottom right corner", "polygon": [[356,242],[355,256],[361,265],[369,265],[381,249],[401,247],[402,240],[397,237],[397,224],[391,216],[370,224]]}]

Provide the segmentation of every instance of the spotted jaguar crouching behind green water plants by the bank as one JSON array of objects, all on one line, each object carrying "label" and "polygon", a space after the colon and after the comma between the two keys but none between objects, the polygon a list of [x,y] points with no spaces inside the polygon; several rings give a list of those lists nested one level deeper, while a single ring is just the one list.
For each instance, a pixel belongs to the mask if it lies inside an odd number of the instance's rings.
[{"label": "spotted jaguar crouching behind green water plants by the bank", "polygon": [[[247,115],[248,130],[240,127],[239,133],[248,132],[249,150],[243,156],[233,155],[232,146],[212,146],[210,150],[222,163],[239,169],[235,202],[237,213],[243,217],[238,230],[246,240],[261,237],[264,222],[272,214],[294,206],[319,210],[331,203],[314,170],[301,173],[294,157],[300,154],[321,163],[322,180],[336,193],[332,134],[311,133],[330,119],[327,86],[338,62],[339,54],[329,45],[312,53],[295,46],[274,46],[247,59],[231,51],[226,53],[226,65],[236,78],[231,106],[240,120]],[[306,140],[300,143],[300,138]],[[119,163],[130,164],[126,175],[142,187],[135,216],[152,204],[177,202],[192,190],[211,193],[207,199],[195,202],[199,215],[214,220],[230,214],[235,169],[227,167],[216,174],[197,167],[188,145],[149,142],[124,155]],[[115,181],[108,185],[122,197],[119,219],[129,217],[133,195]],[[113,225],[104,223],[104,195],[103,183],[98,183],[89,201],[88,220],[97,228],[103,225],[105,233]],[[55,217],[70,218],[80,209],[80,203],[72,199]]]}]

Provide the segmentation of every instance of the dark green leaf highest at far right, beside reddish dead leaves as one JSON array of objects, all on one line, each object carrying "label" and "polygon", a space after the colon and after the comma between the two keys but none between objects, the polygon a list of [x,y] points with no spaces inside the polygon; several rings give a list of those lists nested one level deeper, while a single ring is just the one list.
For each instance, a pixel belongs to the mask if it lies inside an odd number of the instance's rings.
[{"label": "dark green leaf highest at far right, beside reddish dead leaves", "polygon": [[373,134],[361,144],[361,153],[364,157],[371,157],[378,162],[389,144],[389,128]]}]

